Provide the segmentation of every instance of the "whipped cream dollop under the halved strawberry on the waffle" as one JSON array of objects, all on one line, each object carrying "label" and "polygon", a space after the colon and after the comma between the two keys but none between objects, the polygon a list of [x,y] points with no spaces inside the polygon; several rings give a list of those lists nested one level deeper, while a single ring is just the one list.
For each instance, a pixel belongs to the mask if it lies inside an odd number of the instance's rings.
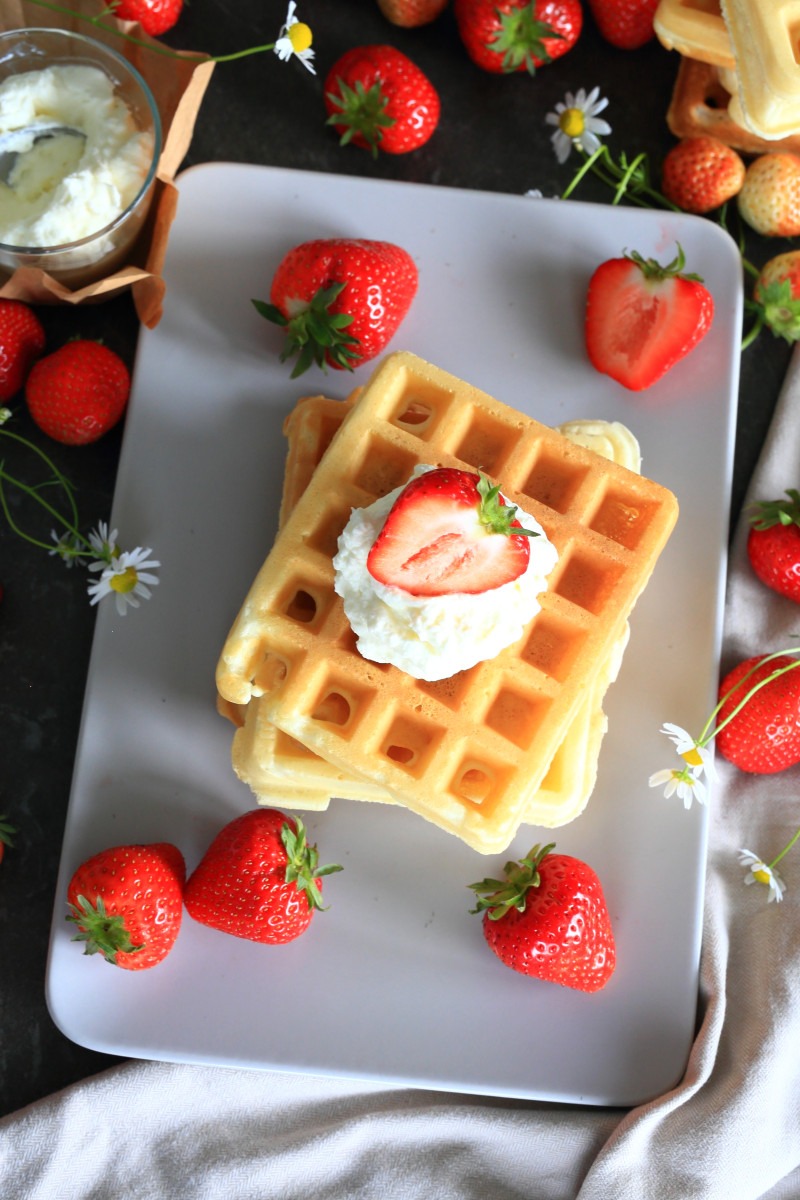
[{"label": "whipped cream dollop under the halved strawberry on the waffle", "polygon": [[[419,466],[414,476],[432,469]],[[518,578],[488,592],[443,596],[386,587],[367,570],[367,556],[404,486],[353,510],[333,558],[333,586],[363,658],[391,662],[415,679],[447,679],[522,637],[541,608],[537,598],[547,589],[558,551],[535,517],[517,508],[516,520],[539,534],[528,539],[528,566]]]}]

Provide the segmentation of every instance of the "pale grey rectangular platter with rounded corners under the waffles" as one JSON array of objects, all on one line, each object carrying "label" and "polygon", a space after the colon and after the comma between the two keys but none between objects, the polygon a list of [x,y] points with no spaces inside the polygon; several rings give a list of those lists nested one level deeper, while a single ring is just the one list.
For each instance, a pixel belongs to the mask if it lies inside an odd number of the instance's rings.
[{"label": "pale grey rectangular platter with rounded corners under the waffles", "polygon": [[[741,323],[730,239],[697,217],[216,163],[180,178],[164,317],[144,330],[112,524],[161,560],[154,598],[100,606],[55,898],[50,1013],[78,1044],[132,1057],[338,1074],[504,1097],[630,1105],[673,1086],[693,1038],[706,811],[648,786],[673,764],[663,721],[698,730],[715,691]],[[89,854],[168,840],[190,871],[253,804],[215,712],[222,641],[276,529],[281,425],[299,380],[254,311],[285,251],[319,236],[396,241],[420,288],[409,349],[547,424],[621,420],[681,516],[632,618],[588,810],[555,830],[600,875],[618,968],[594,996],[518,976],[488,950],[468,884],[483,858],[401,809],[333,800],[309,815],[330,908],[287,947],[188,917],[158,967],[86,958],[65,922]],[[710,287],[705,341],[650,391],[596,373],[583,347],[589,276],[622,250],[680,241]],[[511,853],[551,840],[525,829]]]}]

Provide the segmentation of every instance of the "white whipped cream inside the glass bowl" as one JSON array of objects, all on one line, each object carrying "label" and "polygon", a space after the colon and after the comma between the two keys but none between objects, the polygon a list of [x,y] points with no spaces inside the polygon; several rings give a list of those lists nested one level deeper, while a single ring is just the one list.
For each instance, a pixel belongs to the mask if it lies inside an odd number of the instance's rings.
[{"label": "white whipped cream inside the glass bowl", "polygon": [[[37,134],[54,125],[82,136]],[[62,246],[97,233],[137,198],[152,161],[152,134],[95,66],[10,76],[0,84],[0,133],[19,154],[0,184],[0,241],[8,246]]]}]

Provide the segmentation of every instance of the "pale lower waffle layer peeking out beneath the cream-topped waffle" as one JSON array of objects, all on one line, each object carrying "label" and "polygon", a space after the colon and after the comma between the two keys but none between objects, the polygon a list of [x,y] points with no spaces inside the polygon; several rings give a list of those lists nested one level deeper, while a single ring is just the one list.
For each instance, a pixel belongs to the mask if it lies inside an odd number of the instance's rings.
[{"label": "pale lower waffle layer peeking out beneath the cream-topped waffle", "polygon": [[[283,425],[288,439],[287,466],[281,503],[281,523],[302,494],[333,433],[351,407],[348,401],[309,396],[300,400]],[[618,422],[581,419],[560,425],[559,431],[578,445],[585,445],[630,470],[639,472],[640,454],[636,437]],[[607,720],[602,701],[616,676],[627,642],[625,635],[614,648],[612,661],[601,673],[572,721],[548,768],[541,787],[529,798],[524,822],[553,828],[573,821],[585,808],[597,776],[597,758]],[[240,728],[233,742],[236,775],[248,784],[259,803],[282,803],[287,808],[327,808],[330,799],[395,803],[395,798],[369,780],[355,779],[337,770],[300,742],[259,719],[259,700],[230,706],[219,700],[219,710]],[[296,788],[296,792],[291,790]],[[277,796],[281,799],[278,800]]]}]

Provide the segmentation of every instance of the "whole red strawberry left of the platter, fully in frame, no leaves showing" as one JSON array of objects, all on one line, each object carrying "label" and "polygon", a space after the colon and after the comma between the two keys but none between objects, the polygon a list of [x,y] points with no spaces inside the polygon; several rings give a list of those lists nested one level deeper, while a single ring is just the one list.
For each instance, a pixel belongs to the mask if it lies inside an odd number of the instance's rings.
[{"label": "whole red strawberry left of the platter, fully in frame, no leaves showing", "polygon": [[77,338],[34,365],[25,400],[48,437],[86,445],[116,425],[130,391],[131,376],[119,354],[101,342]]}]

